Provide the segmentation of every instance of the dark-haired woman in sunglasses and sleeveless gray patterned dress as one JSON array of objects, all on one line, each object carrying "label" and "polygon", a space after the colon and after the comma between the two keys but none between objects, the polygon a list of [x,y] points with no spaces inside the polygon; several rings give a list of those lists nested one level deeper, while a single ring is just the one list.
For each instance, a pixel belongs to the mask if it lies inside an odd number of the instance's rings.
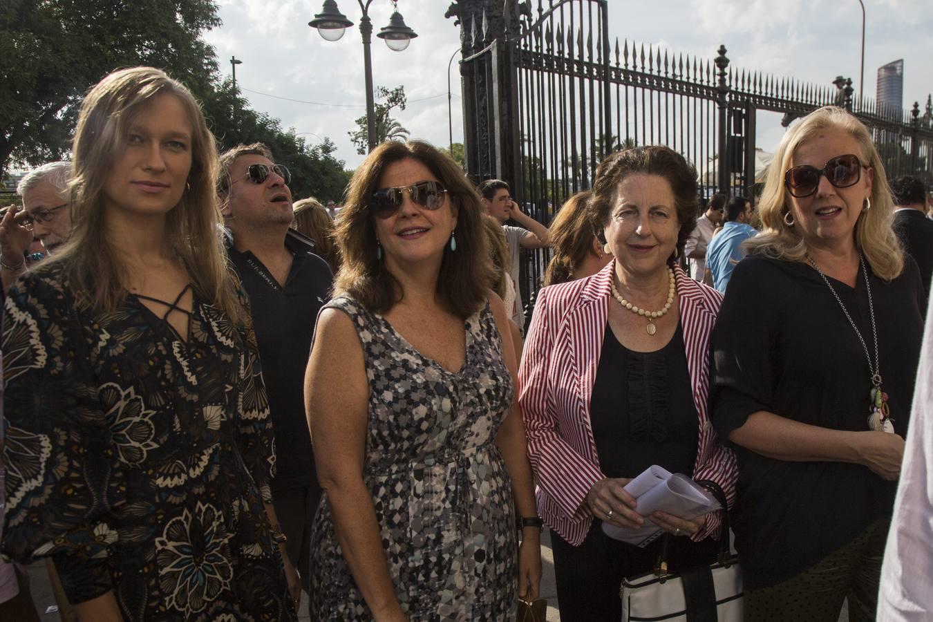
[{"label": "dark-haired woman in sunglasses and sleeveless gray patterned dress", "polygon": [[425,143],[385,143],[341,211],[343,267],[305,385],[326,492],[314,620],[504,620],[536,598],[515,357],[480,200]]}]

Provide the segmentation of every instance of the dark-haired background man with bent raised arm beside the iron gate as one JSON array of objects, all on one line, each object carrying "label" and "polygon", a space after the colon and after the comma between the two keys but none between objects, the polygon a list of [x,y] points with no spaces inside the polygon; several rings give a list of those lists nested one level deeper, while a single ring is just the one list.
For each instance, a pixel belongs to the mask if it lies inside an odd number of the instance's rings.
[{"label": "dark-haired background man with bent raised arm beside the iron gate", "polygon": [[[508,242],[511,265],[508,276],[515,284],[515,308],[509,309],[512,321],[519,326],[524,335],[524,307],[522,306],[522,288],[519,287],[519,259],[522,248],[546,248],[550,244],[548,228],[534,218],[522,212],[519,204],[512,200],[508,184],[501,179],[487,179],[480,184],[480,195],[486,213],[493,216],[502,225],[502,232]],[[521,227],[506,225],[508,219]]]}]

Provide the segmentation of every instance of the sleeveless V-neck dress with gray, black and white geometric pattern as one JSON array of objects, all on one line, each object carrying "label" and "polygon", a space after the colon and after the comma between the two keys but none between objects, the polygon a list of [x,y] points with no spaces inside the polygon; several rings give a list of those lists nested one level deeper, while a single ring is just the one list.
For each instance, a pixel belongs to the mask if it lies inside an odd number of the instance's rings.
[{"label": "sleeveless V-neck dress with gray, black and white geometric pattern", "polygon": [[[351,297],[369,379],[364,481],[402,610],[416,620],[514,615],[512,492],[495,434],[514,387],[488,303],[466,320],[466,360],[451,373]],[[334,534],[327,495],[312,532],[313,620],[371,620]]]}]

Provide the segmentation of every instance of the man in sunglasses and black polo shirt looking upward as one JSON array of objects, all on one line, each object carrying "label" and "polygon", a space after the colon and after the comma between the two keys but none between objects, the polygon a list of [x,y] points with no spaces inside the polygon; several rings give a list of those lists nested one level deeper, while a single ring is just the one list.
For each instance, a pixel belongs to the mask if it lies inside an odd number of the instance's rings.
[{"label": "man in sunglasses and black polo shirt looking upward", "polygon": [[[321,488],[304,411],[304,370],[317,311],[333,276],[313,242],[289,228],[289,173],[266,145],[238,145],[220,157],[218,194],[230,261],[252,308],[262,377],[275,431],[272,503],[288,557],[308,590],[310,531]],[[273,530],[274,531],[274,530]]]}]

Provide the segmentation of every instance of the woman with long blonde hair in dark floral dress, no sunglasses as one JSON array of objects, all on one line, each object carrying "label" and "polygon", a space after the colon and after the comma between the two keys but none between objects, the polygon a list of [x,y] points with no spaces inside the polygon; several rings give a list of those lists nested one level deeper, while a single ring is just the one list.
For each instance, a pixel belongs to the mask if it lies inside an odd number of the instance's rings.
[{"label": "woman with long blonde hair in dark floral dress, no sunglasses", "polygon": [[4,313],[3,552],[51,557],[82,620],[294,620],[214,136],[136,67],[89,91],[74,157],[71,237]]}]

